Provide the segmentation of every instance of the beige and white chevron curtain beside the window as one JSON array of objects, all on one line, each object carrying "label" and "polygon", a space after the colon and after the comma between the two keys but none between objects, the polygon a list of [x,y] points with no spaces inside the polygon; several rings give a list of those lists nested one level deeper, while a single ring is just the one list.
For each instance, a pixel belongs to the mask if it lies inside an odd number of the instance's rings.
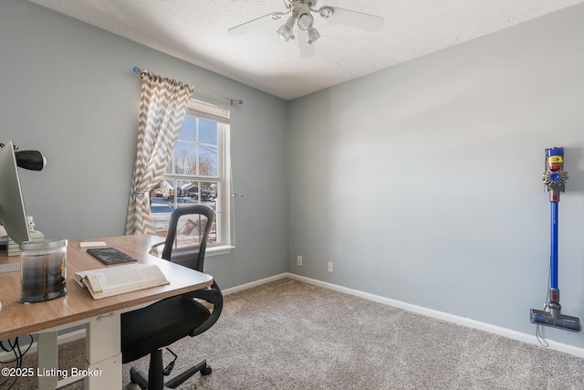
[{"label": "beige and white chevron curtain beside the window", "polygon": [[138,153],[126,216],[126,234],[154,234],[150,191],[162,180],[183,125],[193,86],[140,70]]}]

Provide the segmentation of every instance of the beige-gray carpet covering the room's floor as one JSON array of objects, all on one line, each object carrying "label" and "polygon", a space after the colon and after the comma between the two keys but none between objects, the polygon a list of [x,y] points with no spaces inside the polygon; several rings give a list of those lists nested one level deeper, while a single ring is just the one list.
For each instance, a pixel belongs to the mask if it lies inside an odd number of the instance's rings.
[{"label": "beige-gray carpet covering the room's floor", "polygon": [[[83,353],[80,342],[62,348]],[[584,389],[583,359],[295,279],[226,296],[214,328],[172,350],[176,372],[203,356],[213,367],[183,389]],[[123,388],[134,389],[129,369]]]}]

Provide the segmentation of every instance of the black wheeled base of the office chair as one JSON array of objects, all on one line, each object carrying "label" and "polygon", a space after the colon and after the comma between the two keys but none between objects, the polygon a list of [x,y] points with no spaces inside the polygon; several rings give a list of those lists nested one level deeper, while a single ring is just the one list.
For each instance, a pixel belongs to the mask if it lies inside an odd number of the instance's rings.
[{"label": "black wheeled base of the office chair", "polygon": [[182,373],[172,375],[172,377],[164,382],[164,376],[162,375],[162,350],[158,350],[151,353],[148,377],[142,374],[138,368],[132,366],[130,369],[130,381],[132,384],[139,385],[142,390],[166,390],[178,387],[193,376],[193,374],[201,372],[202,375],[208,375],[212,371],[211,366],[203,359]]}]

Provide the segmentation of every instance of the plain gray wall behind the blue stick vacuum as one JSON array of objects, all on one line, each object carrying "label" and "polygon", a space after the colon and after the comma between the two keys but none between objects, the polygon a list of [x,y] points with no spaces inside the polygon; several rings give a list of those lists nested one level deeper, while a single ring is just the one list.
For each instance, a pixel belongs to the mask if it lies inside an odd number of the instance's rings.
[{"label": "plain gray wall behind the blue stick vacuum", "polygon": [[534,334],[544,151],[564,146],[559,287],[584,319],[582,20],[572,6],[292,101],[288,270]]}]

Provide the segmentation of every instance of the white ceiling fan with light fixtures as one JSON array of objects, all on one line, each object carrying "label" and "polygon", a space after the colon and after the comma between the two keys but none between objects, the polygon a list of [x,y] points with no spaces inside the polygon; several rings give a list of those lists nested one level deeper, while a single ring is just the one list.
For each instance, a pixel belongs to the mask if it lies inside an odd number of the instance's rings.
[{"label": "white ceiling fan with light fixtures", "polygon": [[[336,6],[323,5],[317,8],[318,0],[284,0],[286,12],[273,12],[265,16],[257,17],[242,25],[231,27],[227,32],[233,36],[241,36],[249,31],[262,26],[269,26],[273,20],[282,20],[288,16],[287,21],[276,30],[276,34],[284,41],[297,38],[301,58],[310,58],[315,55],[314,42],[320,37],[312,14],[328,19],[331,24],[351,26],[366,31],[377,31],[383,26],[383,18],[370,14],[363,14]],[[297,35],[295,34],[297,29]]]}]

